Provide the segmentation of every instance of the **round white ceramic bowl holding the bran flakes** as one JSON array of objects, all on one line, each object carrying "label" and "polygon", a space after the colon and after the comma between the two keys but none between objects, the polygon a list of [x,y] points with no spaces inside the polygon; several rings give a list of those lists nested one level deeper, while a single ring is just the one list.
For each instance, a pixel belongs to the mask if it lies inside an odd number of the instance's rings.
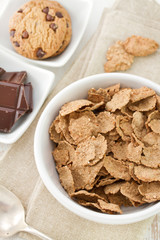
[{"label": "round white ceramic bowl holding the bran flakes", "polygon": [[48,129],[57,116],[60,107],[75,99],[86,98],[88,89],[106,88],[120,83],[122,87],[139,88],[148,86],[160,94],[160,86],[145,78],[130,74],[107,73],[90,76],[72,83],[60,91],[42,113],[35,132],[34,154],[39,174],[49,192],[67,209],[75,214],[103,224],[129,224],[146,219],[160,211],[160,202],[140,207],[124,207],[122,215],[99,213],[74,202],[60,184],[52,157],[53,144],[49,139]]}]

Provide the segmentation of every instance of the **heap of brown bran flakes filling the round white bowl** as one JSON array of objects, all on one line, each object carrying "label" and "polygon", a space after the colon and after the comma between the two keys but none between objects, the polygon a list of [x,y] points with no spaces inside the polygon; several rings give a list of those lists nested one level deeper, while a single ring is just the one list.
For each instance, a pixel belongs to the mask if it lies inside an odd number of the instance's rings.
[{"label": "heap of brown bran flakes filling the round white bowl", "polygon": [[61,185],[74,201],[121,214],[121,206],[160,200],[159,106],[152,89],[115,84],[61,107],[49,134]]}]

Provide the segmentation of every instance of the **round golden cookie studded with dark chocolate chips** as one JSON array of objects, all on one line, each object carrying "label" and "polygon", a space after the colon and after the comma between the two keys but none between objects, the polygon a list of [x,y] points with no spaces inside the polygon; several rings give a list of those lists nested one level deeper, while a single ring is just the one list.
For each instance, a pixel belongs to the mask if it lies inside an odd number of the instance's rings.
[{"label": "round golden cookie studded with dark chocolate chips", "polygon": [[[10,19],[10,39],[15,50],[31,59],[57,55],[67,39],[67,11],[55,1],[33,0]],[[68,19],[68,20],[67,20]]]}]

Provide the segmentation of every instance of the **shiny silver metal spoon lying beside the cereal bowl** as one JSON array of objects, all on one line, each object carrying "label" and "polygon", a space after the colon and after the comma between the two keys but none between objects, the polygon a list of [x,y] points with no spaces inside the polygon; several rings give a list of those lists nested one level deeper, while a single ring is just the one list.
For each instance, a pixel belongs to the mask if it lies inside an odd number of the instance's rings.
[{"label": "shiny silver metal spoon lying beside the cereal bowl", "polygon": [[25,222],[25,212],[20,200],[0,185],[0,237],[10,237],[20,231],[34,234],[42,239],[53,240]]}]

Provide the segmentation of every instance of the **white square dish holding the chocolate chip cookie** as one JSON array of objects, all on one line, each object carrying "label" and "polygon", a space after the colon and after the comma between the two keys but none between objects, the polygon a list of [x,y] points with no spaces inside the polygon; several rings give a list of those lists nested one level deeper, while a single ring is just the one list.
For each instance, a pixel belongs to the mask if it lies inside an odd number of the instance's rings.
[{"label": "white square dish holding the chocolate chip cookie", "polygon": [[[9,36],[9,19],[24,3],[29,0],[8,0],[3,13],[0,15],[0,47],[9,51],[10,54],[15,55],[22,60],[26,60],[30,63],[40,64],[41,66],[50,66],[50,67],[61,67],[66,64],[66,62],[71,58],[74,51],[76,50],[80,40],[86,29],[89,16],[92,9],[91,0],[58,0],[62,6],[66,8],[70,14],[72,21],[72,39],[65,51],[59,56],[48,58],[44,60],[32,60],[21,56],[16,53],[12,44],[10,42]],[[2,24],[3,23],[3,24]]]}]

